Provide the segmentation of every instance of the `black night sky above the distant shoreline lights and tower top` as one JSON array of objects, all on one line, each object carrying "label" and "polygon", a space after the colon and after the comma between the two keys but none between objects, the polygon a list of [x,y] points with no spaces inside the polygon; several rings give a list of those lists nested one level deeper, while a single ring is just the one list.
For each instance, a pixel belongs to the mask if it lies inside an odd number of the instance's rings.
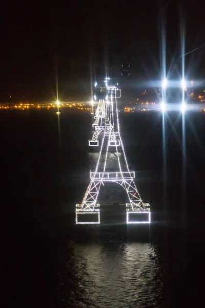
[{"label": "black night sky above the distant shoreline lights and tower top", "polygon": [[[168,4],[169,3],[169,4]],[[168,4],[168,5],[167,5]],[[188,52],[205,44],[201,1],[137,1],[131,7],[103,3],[97,7],[70,4],[17,5],[1,17],[0,101],[49,99],[67,83],[89,80],[107,63],[129,63],[131,78],[160,78],[161,25],[166,27],[167,64],[180,64],[180,24],[185,21]],[[166,7],[167,6],[167,7]],[[180,17],[181,16],[181,17]],[[186,73],[202,78],[205,47],[186,56]]]}]

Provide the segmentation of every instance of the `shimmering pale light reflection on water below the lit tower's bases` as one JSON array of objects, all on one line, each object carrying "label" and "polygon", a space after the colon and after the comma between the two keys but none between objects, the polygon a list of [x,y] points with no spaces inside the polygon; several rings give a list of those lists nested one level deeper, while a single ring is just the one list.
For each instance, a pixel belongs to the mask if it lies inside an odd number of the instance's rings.
[{"label": "shimmering pale light reflection on water below the lit tower's bases", "polygon": [[156,246],[74,244],[67,257],[67,271],[58,287],[58,299],[65,307],[159,306],[162,282]]}]

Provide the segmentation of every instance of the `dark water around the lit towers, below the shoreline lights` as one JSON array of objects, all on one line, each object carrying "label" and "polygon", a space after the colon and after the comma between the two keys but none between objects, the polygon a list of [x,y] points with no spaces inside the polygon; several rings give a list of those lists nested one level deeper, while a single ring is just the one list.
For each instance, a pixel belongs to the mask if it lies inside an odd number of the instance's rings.
[{"label": "dark water around the lit towers, below the shoreline lights", "polygon": [[[7,112],[0,117],[2,306],[192,307],[202,303],[202,113],[186,117],[186,173],[181,117],[169,113],[167,183],[161,114],[121,115],[130,169],[138,171],[140,195],[153,210],[150,228],[124,224],[76,228],[75,204],[81,202],[89,181],[89,114],[62,112],[60,131],[57,116],[50,111]],[[111,202],[109,189],[100,198]]]}]

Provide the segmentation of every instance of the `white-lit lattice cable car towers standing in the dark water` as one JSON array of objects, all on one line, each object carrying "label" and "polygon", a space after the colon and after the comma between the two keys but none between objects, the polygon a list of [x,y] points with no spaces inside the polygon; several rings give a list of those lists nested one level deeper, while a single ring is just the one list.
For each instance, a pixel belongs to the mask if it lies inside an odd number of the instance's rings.
[{"label": "white-lit lattice cable car towers standing in the dark water", "polygon": [[[99,224],[100,205],[97,203],[101,185],[107,182],[115,182],[121,185],[127,192],[129,200],[126,203],[127,223],[150,223],[151,212],[149,203],[144,203],[139,195],[134,182],[135,172],[130,171],[124,146],[119,132],[119,119],[117,98],[121,97],[117,86],[108,86],[106,83],[105,99],[98,102],[93,128],[92,139],[89,146],[99,148],[99,156],[96,167],[90,171],[90,183],[83,201],[76,204],[76,224]],[[101,140],[99,140],[101,136]],[[124,163],[120,161],[120,151]],[[115,152],[118,168],[110,171],[107,167],[111,152]],[[103,163],[102,163],[103,161]]]}]

